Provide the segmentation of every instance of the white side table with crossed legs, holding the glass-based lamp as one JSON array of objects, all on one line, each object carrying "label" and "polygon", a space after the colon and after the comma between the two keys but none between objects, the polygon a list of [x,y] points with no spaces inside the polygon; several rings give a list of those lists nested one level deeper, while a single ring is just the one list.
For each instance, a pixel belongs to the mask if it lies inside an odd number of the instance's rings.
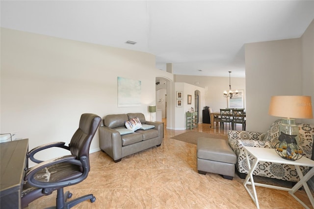
[{"label": "white side table with crossed legs, holding the glass-based lamp", "polygon": [[[309,209],[309,207],[307,207],[299,198],[297,198],[294,195],[294,192],[296,192],[303,185],[304,189],[305,189],[305,191],[306,191],[306,193],[307,193],[307,195],[311,201],[311,204],[314,208],[314,198],[313,198],[311,191],[310,191],[310,188],[307,184],[307,181],[309,179],[311,179],[312,176],[314,176],[314,168],[313,168],[314,167],[314,160],[311,160],[307,157],[301,157],[300,159],[295,160],[295,161],[286,160],[286,159],[280,157],[275,152],[275,149],[270,149],[270,148],[244,147],[244,149],[245,149],[245,155],[246,155],[246,159],[247,159],[248,166],[249,166],[250,170],[249,170],[249,173],[248,173],[243,185],[244,185],[245,189],[247,190],[247,192],[249,193],[249,195],[251,196],[253,202],[255,203],[255,205],[258,209],[260,208],[260,206],[259,206],[259,201],[257,199],[255,185],[288,191],[288,193],[292,197],[294,197],[299,203],[301,203],[301,205],[304,208]],[[250,153],[252,156],[254,156],[256,158],[256,161],[253,163],[252,167],[250,165],[248,153]],[[264,184],[264,183],[254,183],[253,171],[255,170],[259,161],[284,163],[284,164],[294,165],[295,169],[296,169],[296,171],[300,177],[300,181],[298,183],[296,183],[292,188],[273,186],[273,185]],[[312,167],[312,168],[310,169],[310,171],[305,176],[303,176],[302,171],[301,171],[299,166],[308,166],[308,167]],[[250,190],[247,188],[247,184],[252,185],[254,196],[250,192]]]}]

